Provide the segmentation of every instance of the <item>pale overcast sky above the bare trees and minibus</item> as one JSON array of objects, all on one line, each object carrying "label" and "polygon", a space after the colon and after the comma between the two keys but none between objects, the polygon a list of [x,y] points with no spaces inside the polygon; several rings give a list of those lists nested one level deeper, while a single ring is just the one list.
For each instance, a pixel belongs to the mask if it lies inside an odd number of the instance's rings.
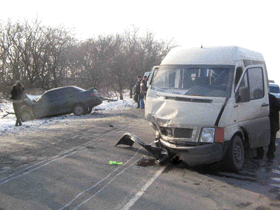
[{"label": "pale overcast sky above the bare trees and minibus", "polygon": [[245,47],[264,55],[269,79],[280,84],[277,0],[1,0],[1,21],[36,18],[43,25],[73,28],[80,39],[135,25],[184,47]]}]

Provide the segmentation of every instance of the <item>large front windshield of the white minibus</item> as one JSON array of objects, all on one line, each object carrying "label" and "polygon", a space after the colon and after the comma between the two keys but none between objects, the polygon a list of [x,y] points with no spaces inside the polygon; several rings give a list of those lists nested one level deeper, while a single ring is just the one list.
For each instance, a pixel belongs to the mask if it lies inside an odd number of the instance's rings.
[{"label": "large front windshield of the white minibus", "polygon": [[151,89],[181,95],[230,97],[232,65],[162,65]]}]

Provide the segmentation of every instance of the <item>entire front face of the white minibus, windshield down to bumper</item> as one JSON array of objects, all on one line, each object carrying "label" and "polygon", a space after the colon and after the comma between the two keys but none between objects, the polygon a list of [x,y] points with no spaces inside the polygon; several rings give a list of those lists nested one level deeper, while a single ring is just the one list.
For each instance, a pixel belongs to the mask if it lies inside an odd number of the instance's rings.
[{"label": "entire front face of the white minibus, windshield down to bumper", "polygon": [[145,118],[155,129],[156,146],[191,166],[220,161],[230,142],[223,117],[232,108],[223,112],[233,73],[234,65],[159,66],[145,102]]}]

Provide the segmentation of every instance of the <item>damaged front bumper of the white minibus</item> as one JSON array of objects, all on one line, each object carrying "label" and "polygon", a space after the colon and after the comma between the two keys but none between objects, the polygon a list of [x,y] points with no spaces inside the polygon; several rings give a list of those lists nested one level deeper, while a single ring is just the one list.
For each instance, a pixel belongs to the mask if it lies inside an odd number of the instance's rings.
[{"label": "damaged front bumper of the white minibus", "polygon": [[179,155],[189,166],[203,165],[218,162],[223,158],[225,151],[224,143],[211,143],[197,146],[176,146],[160,139],[159,146],[166,149],[172,155]]}]

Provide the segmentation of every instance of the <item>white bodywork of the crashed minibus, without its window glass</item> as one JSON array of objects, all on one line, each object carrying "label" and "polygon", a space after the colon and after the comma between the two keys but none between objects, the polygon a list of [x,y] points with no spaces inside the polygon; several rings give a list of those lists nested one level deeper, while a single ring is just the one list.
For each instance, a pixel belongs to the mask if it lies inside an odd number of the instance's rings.
[{"label": "white bodywork of the crashed minibus, without its window glass", "polygon": [[[245,61],[251,66],[245,64]],[[185,90],[186,93],[184,93],[184,88],[162,91],[160,88],[153,88],[154,83],[152,83],[147,92],[145,117],[159,133],[160,143],[165,148],[180,153],[182,159],[192,165],[220,160],[226,152],[226,145],[229,145],[235,135],[241,136],[244,144],[249,148],[268,145],[270,139],[269,87],[265,61],[261,53],[236,46],[175,48],[157,67],[157,73],[168,66],[176,68],[176,66],[184,65],[191,66],[190,68],[202,65],[213,65],[216,68],[222,65],[232,66],[234,69],[232,88],[229,96],[219,96],[219,94],[207,96],[187,94],[189,90]],[[238,84],[235,84],[237,68],[241,68],[243,74]],[[258,71],[261,69],[264,92],[261,97],[256,99],[252,98],[253,93],[250,93],[251,99],[248,102],[240,102],[237,101],[238,93],[236,91],[239,91],[242,79],[245,80],[246,72],[249,69],[251,69],[250,72],[254,72],[254,69]],[[176,69],[174,72],[173,78],[177,78],[179,74]],[[157,77],[157,73],[154,78]],[[198,78],[198,76],[194,77]],[[176,80],[176,82],[182,82],[181,80]],[[173,85],[176,86],[176,82]],[[163,83],[166,83],[166,79],[163,80]],[[202,130],[216,127],[224,128],[224,145],[201,144]],[[179,137],[175,135],[176,129],[181,132],[178,134]],[[188,132],[189,130],[190,132]],[[168,132],[172,133],[169,135]],[[184,137],[182,133],[190,134],[190,136]]]}]

